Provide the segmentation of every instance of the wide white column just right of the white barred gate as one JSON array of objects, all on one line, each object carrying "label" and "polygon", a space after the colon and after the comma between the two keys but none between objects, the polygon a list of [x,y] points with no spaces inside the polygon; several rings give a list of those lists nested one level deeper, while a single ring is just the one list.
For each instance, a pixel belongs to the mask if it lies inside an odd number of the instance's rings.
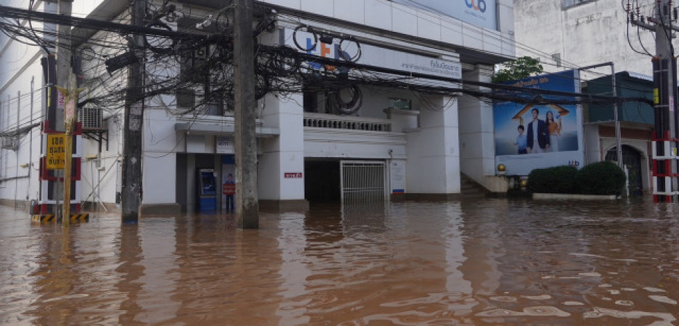
[{"label": "wide white column just right of the white barred gate", "polygon": [[409,194],[459,194],[458,100],[431,96],[420,107],[419,131],[406,136]]}]

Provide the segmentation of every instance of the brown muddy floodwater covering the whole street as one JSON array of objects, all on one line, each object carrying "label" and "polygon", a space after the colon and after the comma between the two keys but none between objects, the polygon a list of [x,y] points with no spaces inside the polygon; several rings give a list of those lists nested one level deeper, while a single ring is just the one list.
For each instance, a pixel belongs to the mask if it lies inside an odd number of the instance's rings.
[{"label": "brown muddy floodwater covering the whole street", "polygon": [[312,206],[69,232],[0,208],[1,325],[679,325],[679,206]]}]

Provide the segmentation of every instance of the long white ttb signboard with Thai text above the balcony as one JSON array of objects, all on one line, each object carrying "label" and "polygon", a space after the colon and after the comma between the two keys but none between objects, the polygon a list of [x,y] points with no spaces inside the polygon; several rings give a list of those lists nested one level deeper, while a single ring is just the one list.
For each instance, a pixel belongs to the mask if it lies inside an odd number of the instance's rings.
[{"label": "long white ttb signboard with Thai text above the balcony", "polygon": [[[298,31],[296,35],[293,35],[294,30],[291,29],[284,29],[283,33],[284,45],[291,48],[298,49],[295,41],[304,47],[311,48],[314,45],[315,38],[311,33]],[[334,39],[332,44],[318,41],[316,47],[307,51],[307,53],[336,60],[341,60],[342,57],[356,56],[356,53],[353,53],[355,46],[344,46],[345,48],[341,48],[340,39]],[[342,52],[344,52],[344,55]],[[460,62],[440,60],[434,57],[380,48],[370,44],[361,44],[361,57],[356,63],[394,69],[405,73],[422,73],[443,78],[462,79],[462,64]]]}]

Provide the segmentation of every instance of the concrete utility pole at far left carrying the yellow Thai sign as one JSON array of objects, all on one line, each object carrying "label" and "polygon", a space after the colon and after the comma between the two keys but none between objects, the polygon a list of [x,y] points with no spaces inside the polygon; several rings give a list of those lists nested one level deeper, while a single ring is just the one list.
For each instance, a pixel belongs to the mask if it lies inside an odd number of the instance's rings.
[{"label": "concrete utility pole at far left carrying the yellow Thai sign", "polygon": [[[73,0],[60,0],[59,1],[59,15],[71,16],[71,10],[73,8]],[[68,87],[69,80],[71,78],[71,26],[62,24],[59,25],[57,30],[57,84],[61,85],[64,89]],[[57,96],[58,98],[58,96]],[[57,112],[55,114],[55,121],[50,121],[51,127],[57,131],[64,131],[64,106],[57,104]],[[70,155],[69,155],[70,156]],[[66,163],[64,161],[64,163]],[[71,164],[69,163],[69,166]],[[64,185],[66,178],[64,176],[66,170],[63,172],[58,172],[57,170],[57,181],[60,177],[64,177]],[[70,170],[69,170],[70,175]],[[70,182],[70,180],[69,180]],[[57,199],[57,205],[55,205],[55,215],[59,215],[59,197],[60,197],[60,187],[59,182],[53,183],[53,194],[54,198]],[[71,188],[69,185],[69,197]],[[65,194],[65,192],[64,192]],[[70,202],[69,202],[70,205]],[[64,212],[69,215],[62,214],[62,226],[69,227],[69,222],[71,221],[70,207],[62,208]],[[62,212],[63,213],[63,212]]]}]

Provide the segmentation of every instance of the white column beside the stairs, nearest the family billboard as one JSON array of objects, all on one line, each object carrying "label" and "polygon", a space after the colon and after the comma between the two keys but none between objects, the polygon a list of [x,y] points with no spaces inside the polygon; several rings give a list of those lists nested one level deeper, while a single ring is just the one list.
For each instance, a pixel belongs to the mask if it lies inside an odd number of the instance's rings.
[{"label": "white column beside the stairs, nearest the family billboard", "polygon": [[[491,66],[476,66],[473,71],[463,72],[462,79],[491,82],[492,74]],[[478,87],[478,90],[485,89]],[[493,105],[471,96],[462,96],[459,110],[460,170],[491,191],[506,191],[506,181],[495,176]]]}]

